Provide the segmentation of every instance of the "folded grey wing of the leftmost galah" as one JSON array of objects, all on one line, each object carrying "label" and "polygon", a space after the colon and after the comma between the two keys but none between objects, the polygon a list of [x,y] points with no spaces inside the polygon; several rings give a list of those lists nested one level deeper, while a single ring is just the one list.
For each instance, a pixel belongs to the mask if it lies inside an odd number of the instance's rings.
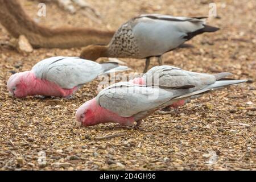
[{"label": "folded grey wing of the leftmost galah", "polygon": [[40,61],[32,71],[37,78],[55,82],[64,89],[92,81],[103,72],[100,64],[79,57],[51,57]]}]

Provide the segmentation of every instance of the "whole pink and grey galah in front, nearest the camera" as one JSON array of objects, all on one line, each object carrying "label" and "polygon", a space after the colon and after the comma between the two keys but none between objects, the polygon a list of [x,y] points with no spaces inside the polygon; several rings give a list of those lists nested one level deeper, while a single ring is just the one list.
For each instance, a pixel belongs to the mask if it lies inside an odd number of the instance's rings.
[{"label": "whole pink and grey galah in front, nearest the camera", "polygon": [[[207,82],[203,78],[198,78],[197,81]],[[81,105],[76,111],[76,121],[82,126],[107,122],[133,125],[136,121],[138,127],[141,125],[142,119],[155,110],[246,80],[213,81],[212,84],[206,85],[204,88],[200,88],[203,83],[200,84],[197,81],[193,81],[193,78],[184,81],[185,84],[177,81],[177,84],[174,83],[175,86],[118,82],[101,90],[97,97]]]}]

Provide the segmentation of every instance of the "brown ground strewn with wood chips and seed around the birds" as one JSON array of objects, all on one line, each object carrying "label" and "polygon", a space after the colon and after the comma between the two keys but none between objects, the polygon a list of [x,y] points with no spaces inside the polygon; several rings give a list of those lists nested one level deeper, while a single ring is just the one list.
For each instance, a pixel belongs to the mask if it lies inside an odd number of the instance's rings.
[{"label": "brown ground strewn with wood chips and seed around the birds", "polygon": [[[183,16],[208,15],[211,1],[124,0],[88,2],[101,14],[101,23],[72,15],[47,3],[39,18],[38,2],[22,0],[27,13],[51,27],[97,27],[115,30],[143,13]],[[196,36],[193,48],[176,49],[164,63],[196,72],[232,72],[249,83],[210,93],[181,107],[180,114],[154,113],[139,130],[108,123],[78,128],[75,111],[96,96],[98,81],[86,84],[75,100],[22,99],[8,96],[10,71],[22,72],[50,56],[78,56],[81,48],[35,49],[22,55],[0,46],[0,169],[1,170],[250,170],[256,169],[256,2],[216,1],[217,15],[208,24],[220,27]],[[10,40],[0,27],[0,40]],[[122,59],[135,72],[144,60]],[[151,67],[157,65],[152,61]],[[105,135],[120,137],[100,139]],[[46,154],[46,163],[40,163]]]}]

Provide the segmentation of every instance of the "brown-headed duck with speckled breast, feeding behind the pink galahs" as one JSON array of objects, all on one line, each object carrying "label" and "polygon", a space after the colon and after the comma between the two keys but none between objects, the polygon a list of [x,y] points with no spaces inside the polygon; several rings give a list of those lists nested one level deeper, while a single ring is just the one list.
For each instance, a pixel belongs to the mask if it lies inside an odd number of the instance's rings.
[{"label": "brown-headed duck with speckled breast, feeding behind the pink galahs", "polygon": [[158,62],[162,65],[163,53],[172,51],[196,35],[219,30],[208,26],[205,18],[207,17],[139,15],[122,24],[108,46],[87,46],[82,49],[80,57],[89,60],[99,57],[146,58],[145,73],[150,57],[158,57]]}]

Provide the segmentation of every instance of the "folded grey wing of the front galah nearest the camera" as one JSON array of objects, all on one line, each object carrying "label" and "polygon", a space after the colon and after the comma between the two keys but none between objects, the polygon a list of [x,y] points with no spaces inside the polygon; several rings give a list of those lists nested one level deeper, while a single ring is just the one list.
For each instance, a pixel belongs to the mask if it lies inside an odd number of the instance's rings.
[{"label": "folded grey wing of the front galah nearest the camera", "polygon": [[122,117],[131,117],[143,111],[157,109],[174,96],[164,89],[118,82],[102,90],[97,103]]}]

